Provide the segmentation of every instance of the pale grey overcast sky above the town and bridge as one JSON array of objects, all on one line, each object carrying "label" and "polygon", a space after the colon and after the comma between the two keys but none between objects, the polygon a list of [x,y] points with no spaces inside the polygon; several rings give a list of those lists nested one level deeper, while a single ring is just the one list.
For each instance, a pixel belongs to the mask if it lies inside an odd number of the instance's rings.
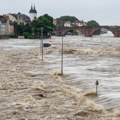
[{"label": "pale grey overcast sky above the town and bridge", "polygon": [[31,4],[35,4],[38,16],[70,15],[84,21],[94,19],[101,25],[120,25],[120,0],[0,0],[0,15],[29,15]]}]

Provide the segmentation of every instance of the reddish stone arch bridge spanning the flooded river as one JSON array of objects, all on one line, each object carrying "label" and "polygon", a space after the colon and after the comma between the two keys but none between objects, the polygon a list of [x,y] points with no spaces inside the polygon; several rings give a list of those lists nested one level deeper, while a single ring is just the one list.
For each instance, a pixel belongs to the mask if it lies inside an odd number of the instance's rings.
[{"label": "reddish stone arch bridge spanning the flooded river", "polygon": [[113,33],[115,37],[120,37],[120,26],[98,26],[98,27],[63,27],[53,30],[53,33],[57,36],[64,36],[70,30],[79,30],[85,37],[92,37],[92,35],[100,29],[107,29]]}]

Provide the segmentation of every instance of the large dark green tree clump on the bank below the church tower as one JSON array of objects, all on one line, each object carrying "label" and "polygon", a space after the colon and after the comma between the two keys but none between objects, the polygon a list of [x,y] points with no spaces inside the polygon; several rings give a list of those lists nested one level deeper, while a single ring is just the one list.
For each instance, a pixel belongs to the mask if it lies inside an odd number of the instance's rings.
[{"label": "large dark green tree clump on the bank below the church tower", "polygon": [[38,38],[43,32],[43,36],[49,37],[53,28],[53,18],[45,14],[33,20],[30,24],[17,25],[17,35],[25,36],[25,38]]}]

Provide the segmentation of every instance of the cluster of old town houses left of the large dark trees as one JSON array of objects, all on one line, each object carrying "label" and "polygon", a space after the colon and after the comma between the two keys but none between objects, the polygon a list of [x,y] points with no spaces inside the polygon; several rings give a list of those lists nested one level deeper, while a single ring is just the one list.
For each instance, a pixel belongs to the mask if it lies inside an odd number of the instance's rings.
[{"label": "cluster of old town houses left of the large dark trees", "polygon": [[[0,16],[0,36],[10,36],[17,33],[17,25],[29,24],[31,22],[29,16],[25,14],[8,13]],[[1,38],[1,37],[0,37]]]}]

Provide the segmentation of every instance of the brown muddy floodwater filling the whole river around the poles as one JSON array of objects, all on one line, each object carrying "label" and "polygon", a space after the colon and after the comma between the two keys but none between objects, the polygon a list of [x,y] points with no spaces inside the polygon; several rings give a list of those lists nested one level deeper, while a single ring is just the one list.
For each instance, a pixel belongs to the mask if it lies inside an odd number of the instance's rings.
[{"label": "brown muddy floodwater filling the whole river around the poles", "polygon": [[61,40],[0,41],[0,120],[120,119],[120,38],[65,36],[63,76]]}]

